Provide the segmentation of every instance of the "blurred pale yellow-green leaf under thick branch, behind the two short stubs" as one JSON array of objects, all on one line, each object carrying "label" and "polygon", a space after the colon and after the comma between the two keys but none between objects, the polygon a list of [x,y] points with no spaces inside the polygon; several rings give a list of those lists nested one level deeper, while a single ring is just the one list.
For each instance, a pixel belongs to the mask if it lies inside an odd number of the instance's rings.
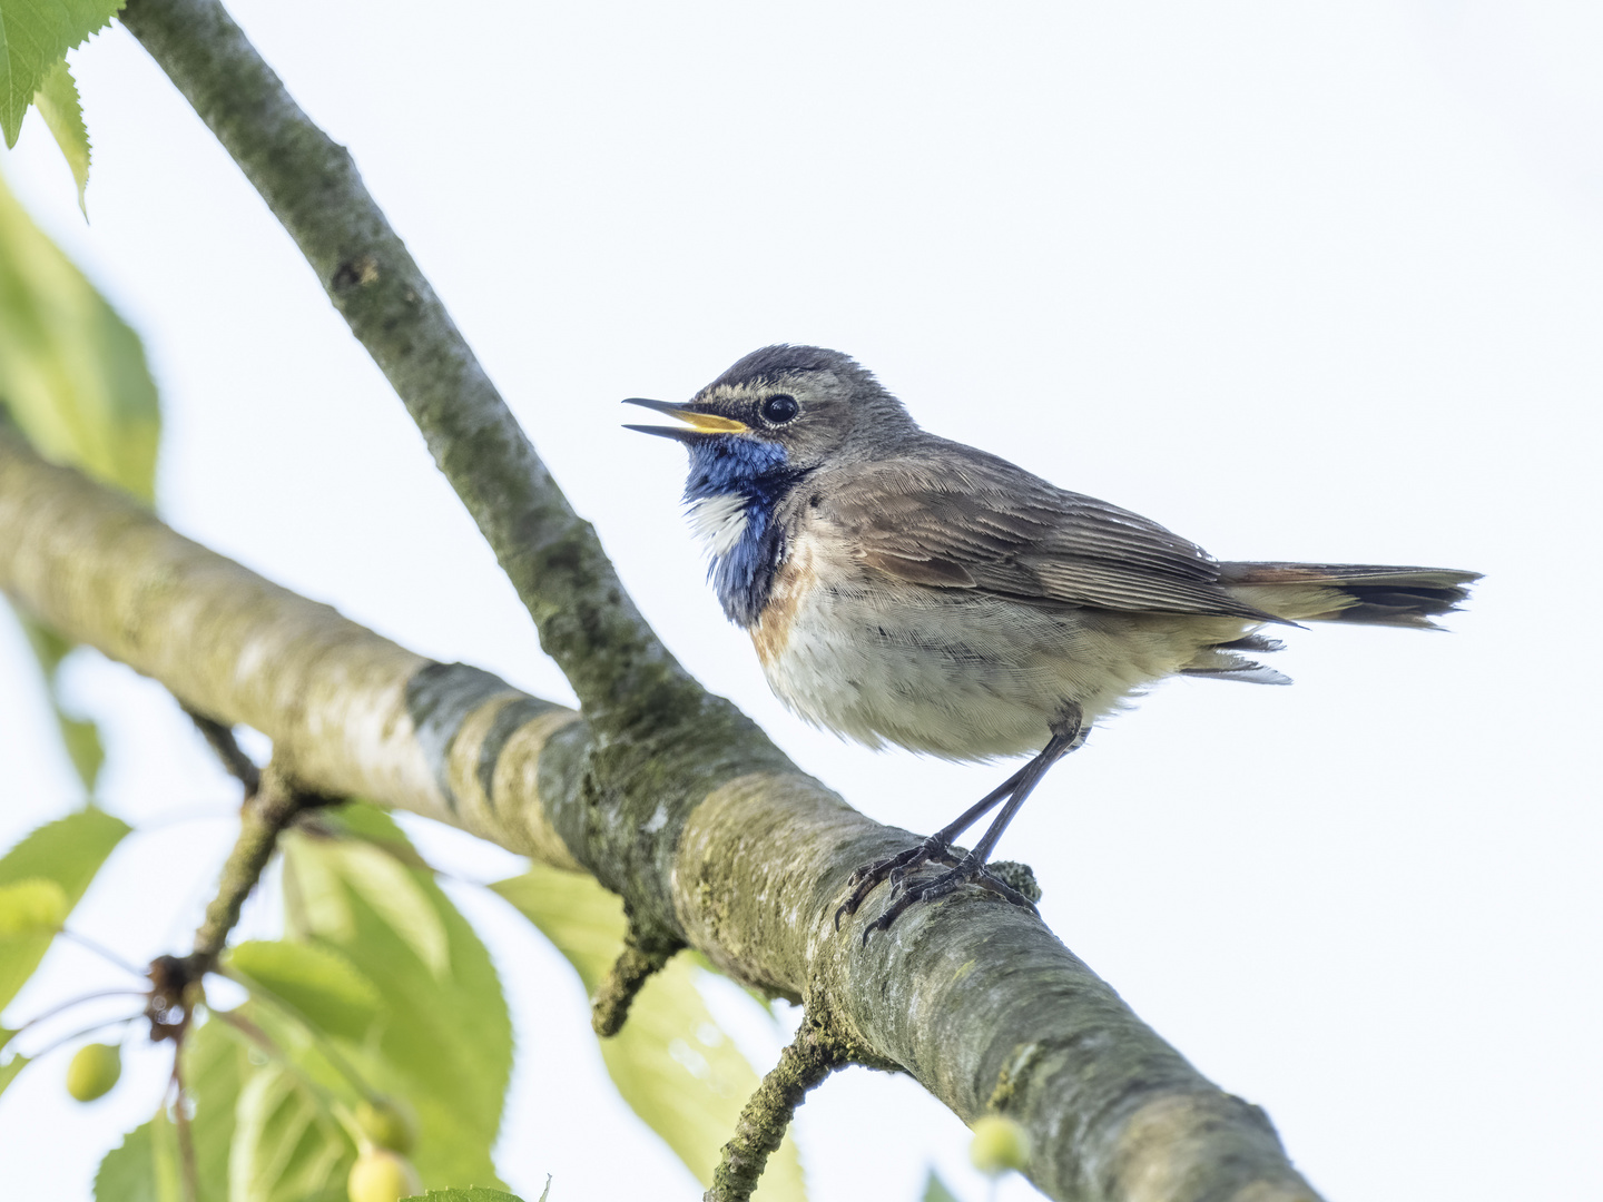
[{"label": "blurred pale yellow-green leaf under thick branch, behind the two short stubs", "polygon": [[[624,946],[624,906],[590,877],[534,865],[491,886],[540,928],[595,994]],[[612,1083],[702,1184],[712,1184],[723,1144],[758,1079],[718,1029],[696,989],[704,971],[684,957],[646,981],[628,1023],[601,1040]],[[790,1136],[769,1157],[757,1197],[805,1199]]]}]

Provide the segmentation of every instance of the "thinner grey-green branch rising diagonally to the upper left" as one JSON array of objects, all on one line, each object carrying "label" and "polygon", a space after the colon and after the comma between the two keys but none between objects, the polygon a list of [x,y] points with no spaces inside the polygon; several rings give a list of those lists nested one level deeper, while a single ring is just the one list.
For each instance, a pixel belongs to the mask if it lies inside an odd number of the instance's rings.
[{"label": "thinner grey-green branch rising diagonally to the upper left", "polygon": [[479,524],[592,723],[694,712],[705,692],[624,591],[356,163],[215,0],[131,0],[123,26],[168,74],[301,248]]}]

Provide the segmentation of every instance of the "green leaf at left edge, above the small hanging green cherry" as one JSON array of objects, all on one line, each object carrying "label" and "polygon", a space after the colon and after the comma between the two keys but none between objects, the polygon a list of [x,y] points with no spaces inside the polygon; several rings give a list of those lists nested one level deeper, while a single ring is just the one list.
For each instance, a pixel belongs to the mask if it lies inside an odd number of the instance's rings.
[{"label": "green leaf at left edge, above the small hanging green cherry", "polygon": [[[38,827],[0,857],[0,894],[10,899],[11,914],[0,918],[0,1010],[38,968],[55,931],[128,830],[127,822],[91,806]],[[45,901],[40,889],[55,893]],[[42,922],[40,909],[27,910],[32,918],[24,922],[19,915],[29,906],[51,907],[53,922]]]}]

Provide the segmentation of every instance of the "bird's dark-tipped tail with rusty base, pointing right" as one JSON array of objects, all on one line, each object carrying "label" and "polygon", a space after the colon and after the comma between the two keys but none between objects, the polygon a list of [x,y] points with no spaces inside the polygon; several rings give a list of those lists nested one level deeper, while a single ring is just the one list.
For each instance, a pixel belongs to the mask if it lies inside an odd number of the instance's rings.
[{"label": "bird's dark-tipped tail with rusty base, pointing right", "polygon": [[1220,583],[1282,622],[1358,622],[1439,630],[1480,572],[1369,564],[1220,564]]}]

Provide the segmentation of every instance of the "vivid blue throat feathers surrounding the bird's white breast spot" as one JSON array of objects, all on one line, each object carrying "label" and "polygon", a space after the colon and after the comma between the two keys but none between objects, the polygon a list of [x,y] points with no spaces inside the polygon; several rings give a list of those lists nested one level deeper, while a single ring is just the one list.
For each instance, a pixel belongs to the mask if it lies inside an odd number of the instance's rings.
[{"label": "vivid blue throat feathers surrounding the bird's white breast spot", "polygon": [[774,572],[785,558],[785,535],[774,522],[774,506],[806,473],[785,466],[785,450],[741,434],[712,434],[688,442],[691,474],[686,503],[712,497],[745,498],[745,529],[707,566],[723,612],[737,627],[750,627],[768,604]]}]

